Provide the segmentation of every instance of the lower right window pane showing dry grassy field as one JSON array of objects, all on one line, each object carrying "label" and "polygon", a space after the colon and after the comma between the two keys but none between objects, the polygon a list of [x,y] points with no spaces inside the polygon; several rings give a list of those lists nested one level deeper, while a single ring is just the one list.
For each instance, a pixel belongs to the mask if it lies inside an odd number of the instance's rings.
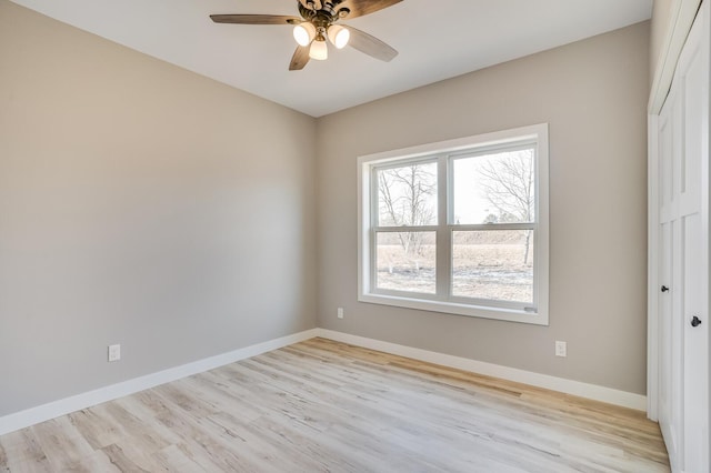
[{"label": "lower right window pane showing dry grassy field", "polygon": [[452,233],[453,295],[533,303],[533,230]]}]

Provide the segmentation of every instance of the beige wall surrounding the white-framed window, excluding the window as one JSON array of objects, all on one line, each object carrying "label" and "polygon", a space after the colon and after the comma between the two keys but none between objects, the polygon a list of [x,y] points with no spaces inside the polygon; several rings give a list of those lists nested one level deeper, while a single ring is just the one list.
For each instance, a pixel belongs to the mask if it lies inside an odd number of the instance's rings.
[{"label": "beige wall surrounding the white-framed window, excluding the window", "polygon": [[[648,79],[644,22],[319,119],[319,326],[644,393]],[[550,326],[357,302],[359,155],[541,122]]]}]

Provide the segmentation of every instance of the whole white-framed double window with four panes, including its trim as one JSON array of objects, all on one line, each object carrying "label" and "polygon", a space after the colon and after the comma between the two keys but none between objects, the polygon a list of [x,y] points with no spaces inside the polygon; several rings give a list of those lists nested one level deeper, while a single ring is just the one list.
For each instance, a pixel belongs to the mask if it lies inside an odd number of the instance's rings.
[{"label": "whole white-framed double window with four panes, including its trim", "polygon": [[548,125],[361,157],[359,300],[548,324]]}]

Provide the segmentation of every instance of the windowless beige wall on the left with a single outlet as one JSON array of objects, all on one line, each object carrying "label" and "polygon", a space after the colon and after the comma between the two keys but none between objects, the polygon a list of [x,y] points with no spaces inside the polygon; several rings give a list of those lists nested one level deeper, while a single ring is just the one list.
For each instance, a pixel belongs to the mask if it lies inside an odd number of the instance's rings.
[{"label": "windowless beige wall on the left with a single outlet", "polygon": [[0,416],[313,328],[314,132],[0,0]]}]

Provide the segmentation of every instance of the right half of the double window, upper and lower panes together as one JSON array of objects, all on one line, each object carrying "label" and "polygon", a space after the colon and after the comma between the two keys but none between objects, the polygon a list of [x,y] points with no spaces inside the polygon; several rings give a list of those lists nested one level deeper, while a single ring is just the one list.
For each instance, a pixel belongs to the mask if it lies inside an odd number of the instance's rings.
[{"label": "right half of the double window, upper and lower panes together", "polygon": [[531,303],[534,150],[464,155],[452,169],[452,294]]}]

